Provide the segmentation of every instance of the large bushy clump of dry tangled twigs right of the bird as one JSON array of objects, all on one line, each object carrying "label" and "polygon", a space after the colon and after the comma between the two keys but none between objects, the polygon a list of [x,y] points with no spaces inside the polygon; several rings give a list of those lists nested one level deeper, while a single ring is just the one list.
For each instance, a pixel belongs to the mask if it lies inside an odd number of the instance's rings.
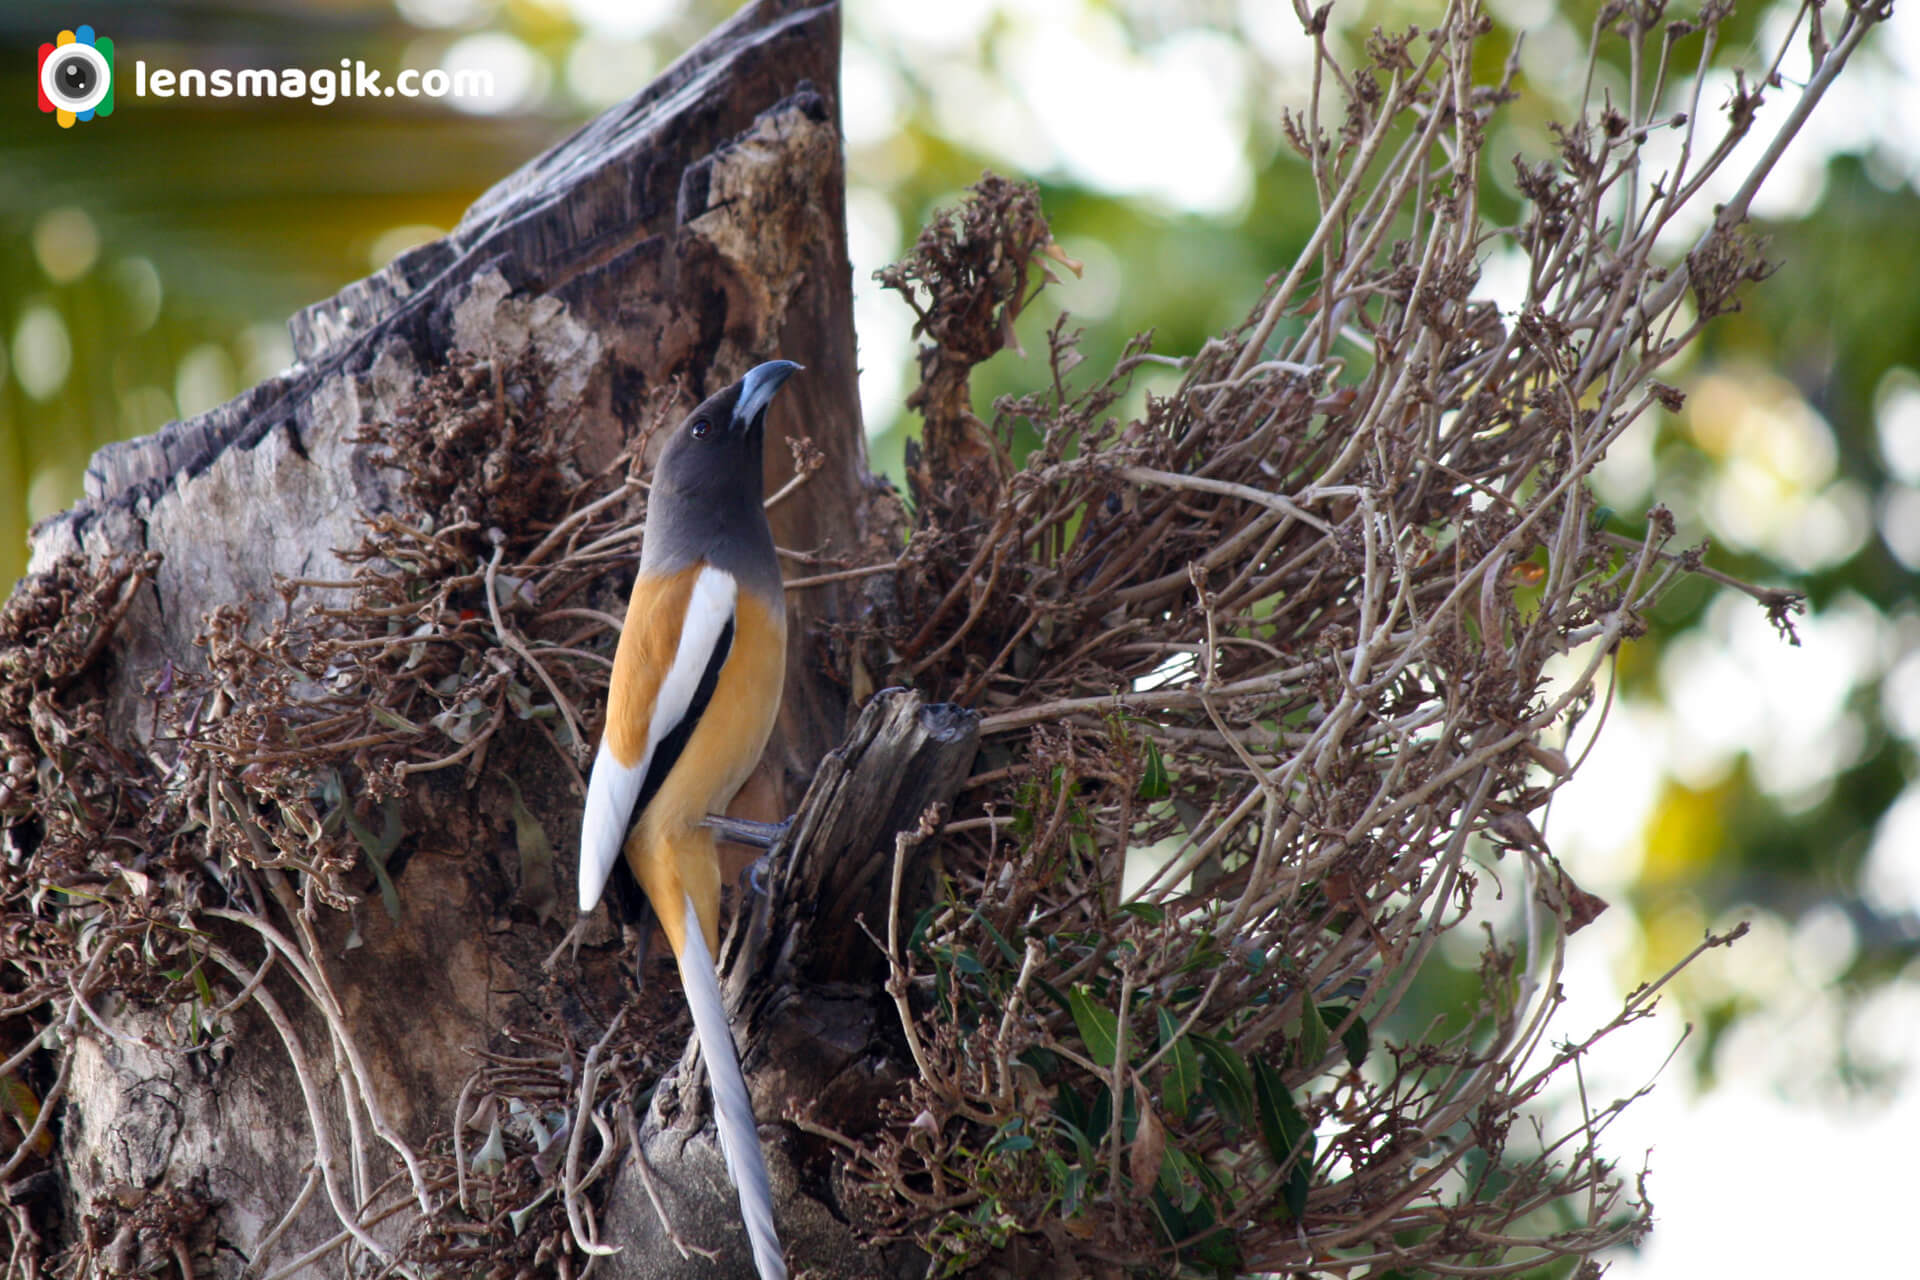
[{"label": "large bushy clump of dry tangled twigs right of the bird", "polygon": [[[918,528],[876,649],[987,708],[989,747],[939,841],[945,902],[895,921],[922,1079],[845,1140],[876,1230],[947,1272],[1500,1274],[1647,1228],[1597,1144],[1624,1103],[1553,1130],[1542,1100],[1659,984],[1590,1034],[1553,1031],[1565,938],[1605,902],[1536,816],[1603,720],[1619,645],[1703,564],[1665,549],[1665,509],[1607,532],[1586,478],[1680,407],[1657,372],[1766,274],[1747,201],[1878,17],[1855,6],[1818,44],[1684,267],[1661,246],[1761,92],[1738,81],[1709,138],[1724,10],[1605,6],[1596,58],[1624,40],[1632,92],[1596,90],[1553,159],[1517,161],[1526,215],[1496,228],[1484,148],[1513,94],[1475,81],[1490,23],[1455,4],[1430,33],[1375,33],[1357,67],[1319,36],[1288,119],[1319,228],[1192,355],[1142,338],[1075,386],[1062,317],[1046,390],[987,426],[966,376],[1031,301],[1035,194],[989,177],[881,273],[929,345]],[[1346,96],[1331,130],[1323,86]],[[1655,171],[1659,129],[1684,144]],[[1476,297],[1494,251],[1524,261],[1513,311]],[[1150,365],[1177,386],[1123,420]],[[1791,635],[1797,597],[1751,593]],[[1501,858],[1523,908],[1488,931],[1480,1007],[1386,1042],[1436,942],[1501,919],[1475,913]]]}]

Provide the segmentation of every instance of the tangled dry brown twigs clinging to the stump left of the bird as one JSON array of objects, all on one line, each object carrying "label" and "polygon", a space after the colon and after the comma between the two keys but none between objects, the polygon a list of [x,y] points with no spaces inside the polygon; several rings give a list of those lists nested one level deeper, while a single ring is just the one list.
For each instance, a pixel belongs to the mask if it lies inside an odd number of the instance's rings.
[{"label": "tangled dry brown twigs clinging to the stump left of the bird", "polygon": [[[415,1150],[384,1115],[365,1031],[344,1009],[315,929],[323,908],[359,902],[369,873],[399,919],[388,862],[403,837],[488,816],[516,833],[520,908],[538,919],[555,912],[545,827],[578,804],[566,785],[588,741],[578,704],[601,699],[618,631],[586,591],[632,560],[643,486],[626,472],[647,432],[601,474],[580,476],[566,424],[541,403],[545,376],[532,357],[457,359],[372,430],[365,441],[396,478],[399,509],[371,514],[365,539],[342,553],[353,576],[282,580],[282,606],[265,626],[242,604],[213,608],[204,668],[148,679],[148,750],[108,731],[98,662],[157,557],[69,560],[10,601],[0,697],[13,856],[0,900],[17,1054],[6,1069],[38,1086],[21,1086],[38,1119],[10,1151],[8,1174],[48,1155],[42,1132],[79,1027],[121,1034],[90,1000],[113,992],[171,1011],[167,1048],[209,1059],[225,1052],[236,1013],[253,1007],[298,1079],[315,1144],[303,1190],[261,1251],[315,1194],[340,1222],[330,1242],[271,1274],[301,1274],[338,1249],[409,1274],[449,1274],[476,1249],[513,1263],[503,1274],[528,1276],[570,1255],[568,1217],[620,1148],[609,1138],[599,1161],[568,1169],[566,1194],[553,1194],[553,1157],[566,1150],[553,1142],[566,1132],[551,1132],[541,1107],[580,1079],[570,1029],[536,1019],[518,1032],[538,1050],[524,1057],[474,1046],[482,1067],[457,1123]],[[657,397],[657,411],[668,399]],[[486,773],[501,739],[518,762],[513,777]],[[549,764],[530,768],[541,756]],[[301,1031],[313,1021],[332,1073]],[[668,1021],[630,1032],[595,1079],[632,1096],[636,1063],[659,1075],[666,1059],[651,1061],[651,1046],[676,1044]],[[478,1163],[461,1161],[461,1125],[492,1125]],[[15,1203],[10,1274],[35,1274],[44,1245],[29,1221],[35,1201]],[[399,1236],[380,1228],[396,1215],[411,1222]],[[205,1244],[194,1236],[205,1217],[207,1205],[179,1190],[96,1203],[60,1265],[96,1274],[190,1257]]]}]

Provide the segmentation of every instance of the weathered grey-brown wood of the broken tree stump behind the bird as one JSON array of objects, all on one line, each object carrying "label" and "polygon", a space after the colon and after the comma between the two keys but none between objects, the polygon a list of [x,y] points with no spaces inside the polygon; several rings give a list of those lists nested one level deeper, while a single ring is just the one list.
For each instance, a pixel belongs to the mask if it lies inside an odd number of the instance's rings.
[{"label": "weathered grey-brown wood of the broken tree stump behind the bird", "polygon": [[[637,98],[488,192],[445,240],[296,317],[294,368],[200,418],[104,449],[88,497],[36,532],[35,564],[71,555],[98,562],[127,549],[163,557],[115,639],[115,723],[165,758],[171,748],[152,741],[150,681],[204,662],[196,633],[207,612],[238,604],[259,624],[280,608],[280,578],[348,576],[338,551],[359,539],[363,514],[396,509],[396,476],[355,438],[392,420],[457,353],[538,357],[551,370],[547,411],[574,422],[582,474],[637,434],[655,390],[680,380],[687,405],[755,361],[795,359],[806,374],[774,411],[768,489],[795,474],[791,438],[810,438],[820,464],[772,512],[776,539],[845,558],[885,541],[893,509],[866,470],[854,386],[837,54],[833,4],[749,6]],[[847,729],[856,708],[845,660],[820,624],[858,606],[860,593],[856,581],[789,597],[785,706],[768,766],[743,798],[747,816],[789,812]],[[601,604],[618,608],[616,599]],[[879,1261],[854,1261],[831,1203],[831,1153],[780,1117],[804,1103],[829,1125],[870,1121],[891,1059],[891,1006],[877,983],[881,958],[856,921],[883,931],[895,831],[952,794],[972,752],[972,718],[910,695],[876,700],[824,770],[774,862],[768,896],[730,940],[737,1034],[781,1226],[797,1263],[831,1274],[877,1274]],[[553,777],[518,785],[566,793]],[[409,831],[390,862],[399,919],[365,902],[307,913],[324,961],[319,984],[365,1055],[363,1111],[415,1150],[453,1125],[472,1052],[497,1048],[518,1013],[561,1007],[586,1044],[632,992],[605,981],[616,969],[605,927],[588,938],[609,958],[599,981],[576,984],[564,967],[549,975],[541,961],[564,919],[541,925],[516,912],[513,831],[463,808],[470,791],[419,791],[434,821]],[[578,796],[564,806],[572,818],[549,827],[557,862],[570,869]],[[559,898],[572,900],[570,871]],[[278,927],[294,933],[290,919]],[[257,963],[259,938],[236,938]],[[236,938],[227,942],[238,954]],[[194,1228],[196,1274],[261,1276],[334,1240],[342,1197],[361,1205],[374,1184],[405,1176],[397,1148],[349,1121],[353,1063],[296,994],[269,979],[257,1004],[232,1013],[221,1048],[200,1054],[169,1048],[154,1011],[100,1009],[115,1034],[75,1040],[63,1111],[69,1234],[90,1215],[106,1228],[119,1221],[123,1261],[157,1261],[167,1234],[140,1234],[104,1205],[184,1192],[209,1209]],[[651,986],[643,1000],[678,1002],[678,992]],[[685,1126],[703,1117],[705,1107],[687,1105],[695,1098],[657,1090],[639,1132],[674,1228],[720,1249],[718,1261],[674,1249],[630,1161],[599,1207],[599,1236],[624,1249],[597,1274],[751,1274],[712,1134],[695,1138]],[[315,1107],[326,1117],[323,1134],[309,1123]],[[682,1121],[670,1123],[676,1113]],[[480,1136],[467,1136],[468,1157]],[[397,1215],[367,1230],[397,1247],[407,1222]],[[303,1274],[340,1267],[330,1255]]]}]

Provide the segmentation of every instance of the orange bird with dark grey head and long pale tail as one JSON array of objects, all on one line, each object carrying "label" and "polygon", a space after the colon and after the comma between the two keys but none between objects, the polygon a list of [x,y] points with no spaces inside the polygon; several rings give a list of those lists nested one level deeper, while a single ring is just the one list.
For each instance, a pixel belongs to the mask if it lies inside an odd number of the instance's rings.
[{"label": "orange bird with dark grey head and long pale tail", "polygon": [[758,764],[785,683],[785,593],[760,461],[768,405],[799,368],[756,365],[660,449],[580,821],[580,912],[609,881],[622,902],[632,883],[620,877],[632,875],[674,948],[760,1280],[783,1280],[787,1267],[714,967],[720,856],[705,821]]}]

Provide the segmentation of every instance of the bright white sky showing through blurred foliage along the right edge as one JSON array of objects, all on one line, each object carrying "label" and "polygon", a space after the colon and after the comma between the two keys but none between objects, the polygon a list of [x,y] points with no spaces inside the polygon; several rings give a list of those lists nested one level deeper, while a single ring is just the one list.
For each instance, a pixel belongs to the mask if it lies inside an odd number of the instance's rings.
[{"label": "bright white sky showing through blurred foliage along the right edge", "polygon": [[[1855,67],[1839,81],[1763,190],[1759,213],[1805,213],[1820,196],[1828,157],[1868,142],[1884,167],[1899,167],[1876,177],[1920,178],[1920,134],[1910,129],[1920,111],[1916,17],[1912,6],[1895,10],[1878,33],[1882,63]],[[1778,119],[1786,102],[1774,94],[1766,113]],[[1764,134],[1766,115],[1755,127],[1755,136]],[[1778,376],[1745,372],[1738,384],[1720,378],[1692,391],[1695,439],[1726,462],[1690,499],[1699,512],[1693,535],[1703,518],[1718,543],[1764,551],[1805,572],[1845,558],[1878,524],[1908,568],[1920,570],[1920,378],[1895,374],[1882,388],[1880,453],[1899,484],[1876,512],[1868,495],[1836,482],[1832,428]],[[1622,441],[1597,482],[1603,501],[1619,499],[1622,510],[1645,501],[1647,445],[1645,438]],[[1617,898],[1640,877],[1644,833],[1667,779],[1711,787],[1745,752],[1757,781],[1788,808],[1795,798],[1816,800],[1862,748],[1845,702],[1868,679],[1893,674],[1884,693],[1887,722],[1920,745],[1920,610],[1912,603],[1887,616],[1866,601],[1841,599],[1809,618],[1801,637],[1799,649],[1780,643],[1757,604],[1728,593],[1699,635],[1665,652],[1665,704],[1615,706],[1546,827],[1584,887]],[[1920,912],[1920,789],[1908,787],[1882,819],[1868,885],[1882,912],[1908,919]],[[1651,1163],[1657,1224],[1645,1249],[1617,1255],[1609,1274],[1897,1274],[1901,1267],[1889,1270],[1889,1263],[1908,1251],[1889,1226],[1912,1213],[1905,1146],[1920,1132],[1920,1088],[1910,1077],[1920,1067],[1920,975],[1908,973],[1845,1017],[1828,984],[1851,960],[1857,936],[1837,910],[1814,910],[1797,927],[1764,912],[1667,923],[1674,935],[1697,938],[1701,929],[1740,917],[1753,919],[1753,935],[1709,954],[1684,981],[1713,994],[1743,994],[1764,1011],[1722,1044],[1716,1088],[1695,1094],[1682,1050],[1659,1088],[1611,1130],[1607,1150],[1622,1167]],[[1615,1009],[1611,992],[1655,977],[1628,965],[1645,948],[1624,912],[1609,912],[1574,938],[1563,1027],[1603,1023]],[[1667,1007],[1622,1032],[1590,1065],[1594,1094],[1638,1088],[1682,1031],[1680,1015]],[[1826,1079],[1839,1046],[1907,1079],[1889,1100],[1849,1098]]]}]

